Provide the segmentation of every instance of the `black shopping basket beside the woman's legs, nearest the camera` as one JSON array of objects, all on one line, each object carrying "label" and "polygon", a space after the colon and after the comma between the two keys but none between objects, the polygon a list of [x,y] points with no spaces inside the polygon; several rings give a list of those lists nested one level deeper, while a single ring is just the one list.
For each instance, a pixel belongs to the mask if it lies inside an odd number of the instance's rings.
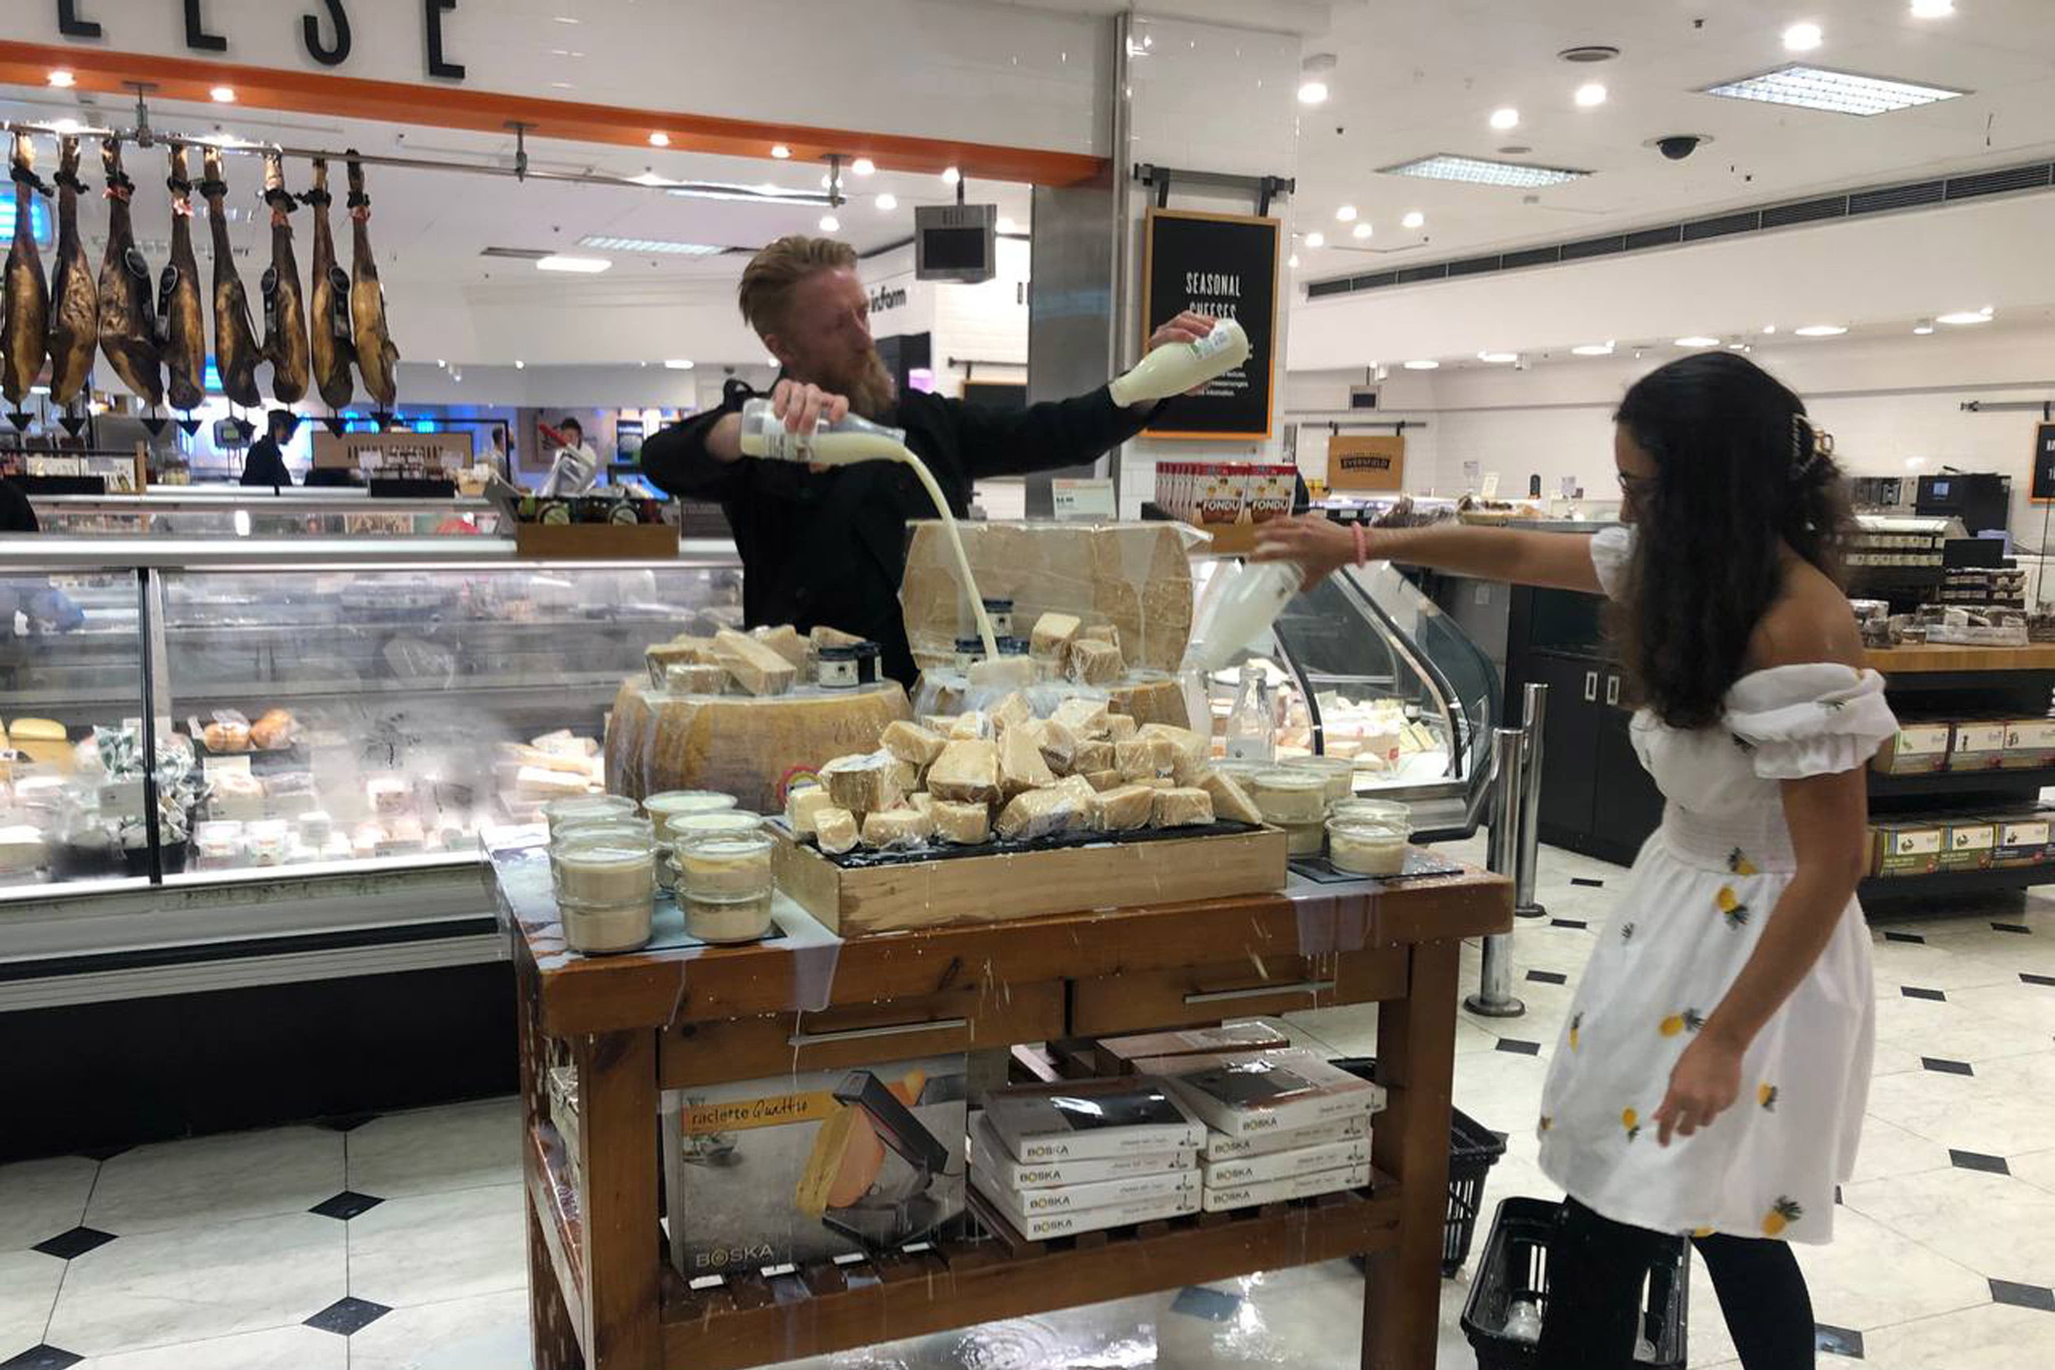
[{"label": "black shopping basket beside the woman's legs, nearest the camera", "polygon": [[[1562,1204],[1547,1200],[1500,1200],[1492,1234],[1463,1302],[1463,1335],[1478,1354],[1478,1370],[1527,1370],[1537,1349],[1531,1341],[1506,1337],[1506,1308],[1531,1298],[1547,1319],[1547,1249],[1562,1228]],[[1656,1347],[1644,1362],[1650,1370],[1683,1370],[1687,1345],[1687,1304],[1691,1298],[1691,1247],[1679,1241],[1671,1255],[1648,1267],[1642,1335]]]}]

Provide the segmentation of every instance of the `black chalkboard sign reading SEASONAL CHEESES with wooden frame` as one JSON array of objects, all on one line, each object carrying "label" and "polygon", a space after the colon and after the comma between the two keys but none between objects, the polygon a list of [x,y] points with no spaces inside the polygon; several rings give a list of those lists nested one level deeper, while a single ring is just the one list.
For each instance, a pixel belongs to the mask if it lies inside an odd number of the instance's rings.
[{"label": "black chalkboard sign reading SEASONAL CHEESES with wooden frame", "polygon": [[1237,318],[1249,359],[1200,394],[1173,398],[1151,437],[1270,437],[1278,310],[1278,220],[1151,210],[1143,345],[1182,310]]}]

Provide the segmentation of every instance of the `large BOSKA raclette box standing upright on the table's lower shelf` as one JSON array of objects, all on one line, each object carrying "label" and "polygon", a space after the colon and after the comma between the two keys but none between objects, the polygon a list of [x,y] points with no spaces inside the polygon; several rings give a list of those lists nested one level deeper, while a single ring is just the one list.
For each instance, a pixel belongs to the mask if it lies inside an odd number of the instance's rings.
[{"label": "large BOSKA raclette box standing upright on the table's lower shelf", "polygon": [[666,1091],[678,1273],[894,1249],[962,1214],[964,1068],[929,1056]]}]

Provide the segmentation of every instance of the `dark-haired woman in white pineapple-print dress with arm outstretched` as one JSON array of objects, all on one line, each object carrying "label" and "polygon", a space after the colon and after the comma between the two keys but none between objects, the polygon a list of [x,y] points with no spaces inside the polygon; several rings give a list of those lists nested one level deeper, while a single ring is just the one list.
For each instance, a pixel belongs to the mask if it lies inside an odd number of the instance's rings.
[{"label": "dark-haired woman in white pineapple-print dress with arm outstretched", "polygon": [[1613,600],[1634,748],[1667,803],[1541,1097],[1541,1169],[1568,1200],[1539,1364],[1630,1366],[1648,1263],[1689,1234],[1741,1364],[1813,1366],[1786,1243],[1831,1239],[1862,1130],[1864,766],[1897,721],[1835,579],[1831,442],[1796,394],[1734,353],[1673,361],[1628,390],[1615,460],[1628,526],[1599,536],[1293,520],[1258,555]]}]

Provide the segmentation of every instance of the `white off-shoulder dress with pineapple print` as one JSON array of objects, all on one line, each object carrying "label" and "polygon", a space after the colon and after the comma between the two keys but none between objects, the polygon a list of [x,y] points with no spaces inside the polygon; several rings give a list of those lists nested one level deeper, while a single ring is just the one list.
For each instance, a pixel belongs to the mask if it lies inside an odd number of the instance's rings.
[{"label": "white off-shoulder dress with pineapple print", "polygon": [[[1607,594],[1630,536],[1593,538]],[[1882,678],[1833,663],[1743,676],[1712,727],[1634,717],[1634,750],[1667,803],[1584,967],[1541,1093],[1541,1169],[1570,1197],[1665,1232],[1833,1236],[1876,1027],[1856,900],[1749,1045],[1734,1107],[1667,1148],[1652,1115],[1796,869],[1778,783],[1856,770],[1895,731]]]}]

